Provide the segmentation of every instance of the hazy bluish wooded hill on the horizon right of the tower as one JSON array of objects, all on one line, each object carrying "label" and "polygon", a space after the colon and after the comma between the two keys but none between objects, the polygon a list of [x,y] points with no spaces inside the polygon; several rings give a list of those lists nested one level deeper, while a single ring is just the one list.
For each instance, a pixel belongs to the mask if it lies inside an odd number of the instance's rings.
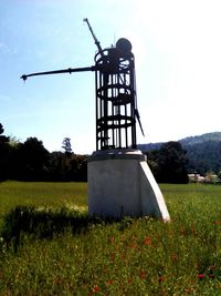
[{"label": "hazy bluish wooded hill on the horizon right of the tower", "polygon": [[[179,140],[187,151],[188,172],[206,174],[208,171],[221,171],[221,132],[206,133]],[[141,151],[158,150],[162,143],[140,144]]]}]

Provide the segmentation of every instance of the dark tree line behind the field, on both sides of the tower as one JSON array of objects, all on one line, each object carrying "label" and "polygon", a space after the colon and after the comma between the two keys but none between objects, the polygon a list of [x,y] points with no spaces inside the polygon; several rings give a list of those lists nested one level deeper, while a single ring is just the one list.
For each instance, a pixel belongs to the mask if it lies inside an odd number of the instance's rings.
[{"label": "dark tree line behind the field, on both sides of the tower", "polygon": [[[63,141],[64,152],[49,152],[42,141],[28,137],[24,143],[3,135],[0,123],[0,181],[87,181],[87,156],[72,152],[71,141]],[[179,142],[164,143],[144,152],[159,183],[188,183],[186,151]]]}]

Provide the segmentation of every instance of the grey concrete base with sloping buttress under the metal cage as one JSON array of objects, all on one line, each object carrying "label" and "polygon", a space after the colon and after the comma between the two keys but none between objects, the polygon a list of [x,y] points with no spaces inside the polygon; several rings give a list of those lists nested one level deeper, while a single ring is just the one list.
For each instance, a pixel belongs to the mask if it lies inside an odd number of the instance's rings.
[{"label": "grey concrete base with sloping buttress under the metal cage", "polygon": [[88,157],[87,175],[90,215],[170,220],[160,188],[139,150],[94,152]]}]

